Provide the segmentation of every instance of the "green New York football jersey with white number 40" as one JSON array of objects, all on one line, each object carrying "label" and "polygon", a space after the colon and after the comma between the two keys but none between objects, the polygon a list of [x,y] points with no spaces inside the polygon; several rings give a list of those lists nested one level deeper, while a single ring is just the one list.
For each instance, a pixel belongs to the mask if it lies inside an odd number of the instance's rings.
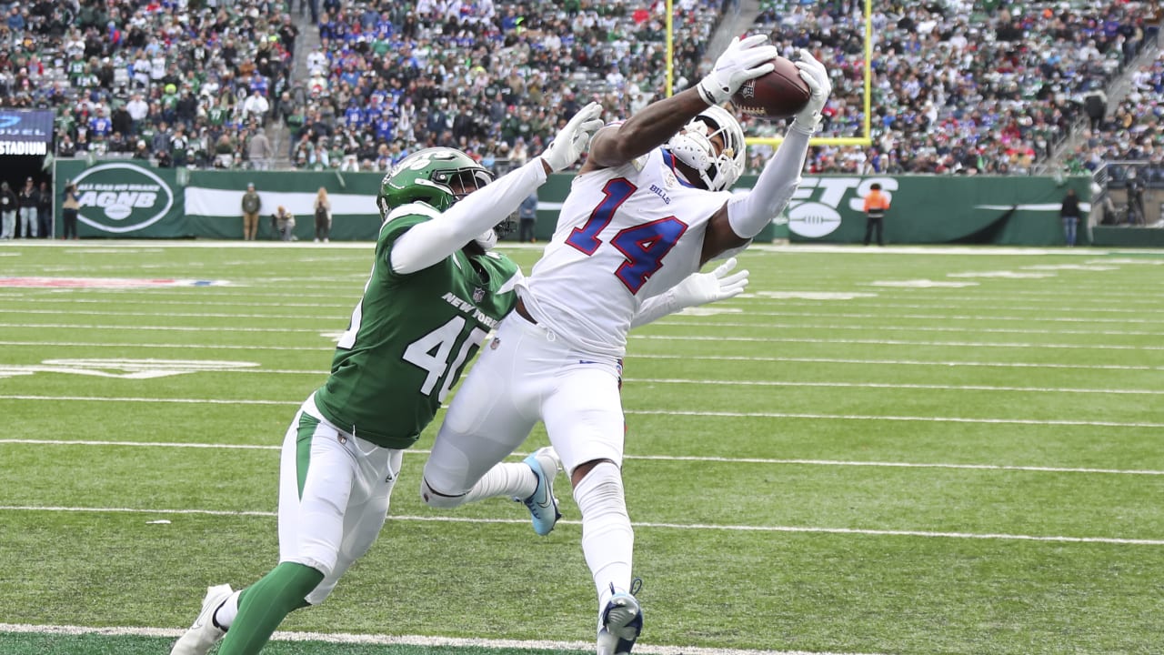
[{"label": "green New York football jersey with white number 40", "polygon": [[392,245],[432,216],[390,216],[381,227],[363,298],[336,345],[332,374],[315,392],[324,417],[384,448],[416,443],[485,336],[517,302],[520,270],[498,253],[471,258],[484,276],[463,251],[417,273],[392,270]]}]

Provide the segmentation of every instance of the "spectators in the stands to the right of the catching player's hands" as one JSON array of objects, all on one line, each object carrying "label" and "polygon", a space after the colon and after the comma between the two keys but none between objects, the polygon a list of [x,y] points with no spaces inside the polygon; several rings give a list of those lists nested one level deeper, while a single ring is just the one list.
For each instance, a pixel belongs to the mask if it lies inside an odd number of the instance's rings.
[{"label": "spectators in the stands to the right of the catching player's hands", "polygon": [[[787,51],[819,52],[833,73],[824,135],[861,135],[865,24],[858,1],[768,0],[758,24]],[[1029,174],[1141,49],[1157,43],[1155,3],[1117,1],[875,2],[868,148],[821,147],[809,167],[849,172]],[[1158,76],[1157,76],[1158,80]],[[1145,90],[1147,91],[1147,90]],[[1159,157],[1157,87],[1141,108],[1141,145]],[[1155,106],[1152,106],[1155,105]],[[772,127],[753,125],[752,134]],[[1095,122],[1106,142],[1117,125]],[[1148,146],[1148,152],[1151,146]],[[1105,157],[1140,156],[1135,145]],[[762,161],[762,160],[760,160]]]}]

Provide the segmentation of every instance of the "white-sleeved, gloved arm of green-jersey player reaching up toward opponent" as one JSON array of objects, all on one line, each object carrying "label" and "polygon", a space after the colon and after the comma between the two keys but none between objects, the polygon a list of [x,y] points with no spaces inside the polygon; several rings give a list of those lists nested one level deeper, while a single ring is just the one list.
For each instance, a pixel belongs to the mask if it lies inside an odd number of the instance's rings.
[{"label": "white-sleeved, gloved arm of green-jersey player reaching up toward opponent", "polygon": [[469,193],[443,213],[410,228],[391,251],[392,270],[407,274],[433,266],[489,232],[517,211],[546,175],[577,161],[602,127],[602,106],[590,103],[566,124],[540,157]]}]

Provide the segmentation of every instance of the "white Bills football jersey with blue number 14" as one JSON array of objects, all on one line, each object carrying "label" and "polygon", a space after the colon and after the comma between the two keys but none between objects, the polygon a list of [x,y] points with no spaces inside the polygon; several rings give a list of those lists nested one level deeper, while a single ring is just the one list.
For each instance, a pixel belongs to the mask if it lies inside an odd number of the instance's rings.
[{"label": "white Bills football jersey with blue number 14", "polygon": [[666,148],[579,175],[519,294],[575,347],[622,357],[643,301],[700,269],[708,219],[729,198],[686,182]]}]

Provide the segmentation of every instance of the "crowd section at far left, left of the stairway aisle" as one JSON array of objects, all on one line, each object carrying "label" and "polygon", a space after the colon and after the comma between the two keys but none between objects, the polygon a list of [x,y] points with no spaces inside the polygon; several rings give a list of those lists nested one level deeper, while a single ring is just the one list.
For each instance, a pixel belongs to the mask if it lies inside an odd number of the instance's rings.
[{"label": "crowd section at far left, left of the stairway aisle", "polygon": [[298,36],[271,2],[34,0],[5,14],[2,105],[54,108],[59,156],[270,160],[263,126],[281,111]]}]

